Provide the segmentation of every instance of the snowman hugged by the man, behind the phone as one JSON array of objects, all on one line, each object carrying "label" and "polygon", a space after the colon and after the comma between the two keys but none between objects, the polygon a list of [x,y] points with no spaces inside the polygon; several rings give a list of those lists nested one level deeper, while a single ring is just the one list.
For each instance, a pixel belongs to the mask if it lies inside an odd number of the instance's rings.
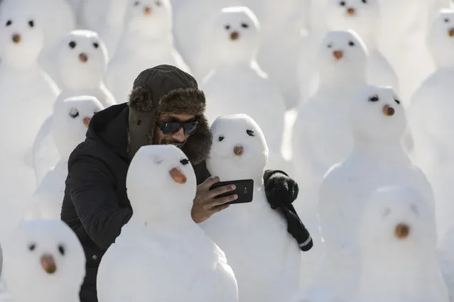
[{"label": "snowman hugged by the man, behind the phone", "polygon": [[[286,301],[298,291],[301,251],[288,234],[287,221],[266,200],[264,170],[268,147],[249,116],[221,116],[212,123],[207,160],[221,181],[252,179],[253,201],[232,204],[200,223],[225,252],[238,281],[239,301]],[[272,242],[272,244],[271,244]],[[301,242],[301,250],[307,250]]]}]

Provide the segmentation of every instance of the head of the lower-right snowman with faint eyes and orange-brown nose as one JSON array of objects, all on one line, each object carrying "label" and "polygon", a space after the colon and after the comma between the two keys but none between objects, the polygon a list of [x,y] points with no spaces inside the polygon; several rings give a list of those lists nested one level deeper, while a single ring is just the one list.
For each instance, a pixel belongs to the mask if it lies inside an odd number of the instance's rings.
[{"label": "head of the lower-right snowman with faint eyes and orange-brown nose", "polygon": [[435,214],[414,188],[380,187],[367,199],[357,236],[363,255],[399,262],[418,250],[435,249]]}]

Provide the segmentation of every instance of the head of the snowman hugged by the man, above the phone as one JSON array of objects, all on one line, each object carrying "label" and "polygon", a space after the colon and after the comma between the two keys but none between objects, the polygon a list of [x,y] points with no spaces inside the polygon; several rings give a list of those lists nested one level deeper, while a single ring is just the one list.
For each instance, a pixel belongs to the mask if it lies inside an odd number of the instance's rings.
[{"label": "head of the snowman hugged by the man, above the phone", "polygon": [[260,183],[268,147],[259,125],[246,114],[220,116],[211,125],[207,169],[222,181],[254,179]]}]

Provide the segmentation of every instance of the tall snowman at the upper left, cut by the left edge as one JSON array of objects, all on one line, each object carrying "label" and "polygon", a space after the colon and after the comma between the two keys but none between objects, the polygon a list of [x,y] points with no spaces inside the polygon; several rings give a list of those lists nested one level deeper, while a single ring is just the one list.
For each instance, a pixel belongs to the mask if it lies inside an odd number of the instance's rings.
[{"label": "tall snowman at the upper left, cut by the left edge", "polygon": [[58,88],[38,64],[43,47],[40,21],[31,15],[0,18],[0,241],[23,215],[36,189],[31,146],[52,112]]}]

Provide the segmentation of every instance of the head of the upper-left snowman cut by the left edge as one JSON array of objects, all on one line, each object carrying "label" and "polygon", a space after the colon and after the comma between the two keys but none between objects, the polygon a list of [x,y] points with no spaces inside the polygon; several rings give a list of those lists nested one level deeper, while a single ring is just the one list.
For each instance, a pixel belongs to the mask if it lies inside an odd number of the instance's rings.
[{"label": "head of the upper-left snowman cut by the left edge", "polygon": [[1,60],[26,68],[38,59],[44,45],[43,28],[33,15],[4,13],[0,19]]}]

